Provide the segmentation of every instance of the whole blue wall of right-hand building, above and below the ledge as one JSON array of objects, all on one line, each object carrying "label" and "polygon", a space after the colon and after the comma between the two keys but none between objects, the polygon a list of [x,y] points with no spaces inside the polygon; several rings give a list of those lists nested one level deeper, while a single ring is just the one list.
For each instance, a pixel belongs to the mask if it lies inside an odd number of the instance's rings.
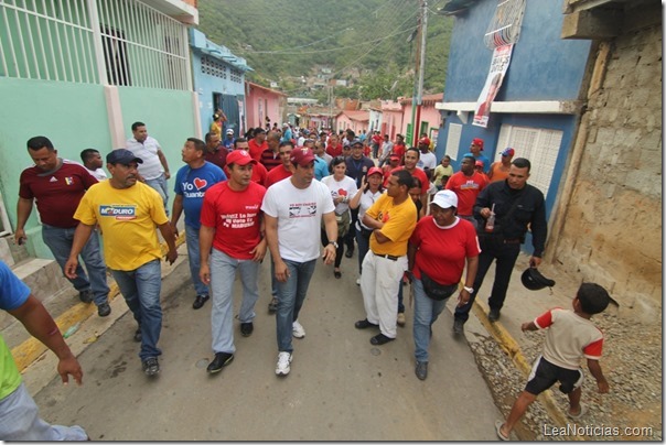
[{"label": "whole blue wall of right-hand building, above and below the ledge", "polygon": [[[444,102],[475,102],[488,73],[492,51],[483,36],[495,13],[497,1],[480,0],[455,15],[449,53]],[[514,45],[511,64],[495,101],[577,100],[586,73],[591,42],[561,40],[562,0],[527,0],[518,42]],[[482,152],[492,162],[505,146],[496,146],[503,124],[534,127],[562,131],[562,141],[546,199],[550,217],[562,180],[569,150],[574,138],[578,116],[491,113],[487,128],[472,126],[472,113],[463,123],[455,112],[444,111],[444,128],[438,138],[437,156],[444,154],[449,126],[462,124],[453,167],[460,169],[462,155],[469,152],[473,138],[484,140]],[[529,240],[527,246],[529,246]],[[529,249],[528,249],[529,250]]]}]

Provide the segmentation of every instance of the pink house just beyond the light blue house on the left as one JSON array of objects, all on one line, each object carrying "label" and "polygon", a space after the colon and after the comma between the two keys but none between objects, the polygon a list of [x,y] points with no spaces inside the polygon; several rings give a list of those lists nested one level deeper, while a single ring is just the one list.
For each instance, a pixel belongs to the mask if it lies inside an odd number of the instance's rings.
[{"label": "pink house just beyond the light blue house on the left", "polygon": [[287,95],[283,93],[246,82],[245,102],[246,129],[266,128],[267,123],[272,128],[276,122],[281,129],[282,122],[286,122]]}]

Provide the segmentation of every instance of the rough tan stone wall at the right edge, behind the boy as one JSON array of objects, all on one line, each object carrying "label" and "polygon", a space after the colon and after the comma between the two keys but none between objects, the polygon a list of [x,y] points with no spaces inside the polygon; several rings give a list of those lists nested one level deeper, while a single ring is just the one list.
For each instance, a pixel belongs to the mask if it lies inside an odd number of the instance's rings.
[{"label": "rough tan stone wall at the right edge, behind the boy", "polygon": [[[657,12],[659,13],[659,12]],[[605,46],[604,46],[605,45]],[[605,53],[604,53],[605,47]],[[554,262],[594,281],[620,314],[656,321],[662,308],[662,23],[600,46],[583,144]],[[593,85],[592,85],[593,86]]]}]

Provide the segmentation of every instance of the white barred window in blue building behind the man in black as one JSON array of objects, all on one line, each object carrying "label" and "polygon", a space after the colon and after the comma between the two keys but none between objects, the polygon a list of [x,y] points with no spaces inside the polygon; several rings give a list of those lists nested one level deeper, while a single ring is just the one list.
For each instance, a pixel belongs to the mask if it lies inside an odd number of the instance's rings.
[{"label": "white barred window in blue building behind the man in black", "polygon": [[512,146],[516,158],[526,158],[531,163],[529,183],[548,196],[552,172],[562,144],[560,130],[530,127],[502,126],[497,150]]}]

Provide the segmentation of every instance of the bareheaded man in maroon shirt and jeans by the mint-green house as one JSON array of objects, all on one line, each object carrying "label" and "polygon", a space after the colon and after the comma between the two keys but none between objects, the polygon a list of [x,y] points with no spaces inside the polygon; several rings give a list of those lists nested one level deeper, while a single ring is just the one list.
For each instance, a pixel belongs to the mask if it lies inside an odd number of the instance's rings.
[{"label": "bareheaded man in maroon shirt and jeans by the mint-green house", "polygon": [[[32,213],[33,200],[36,199],[42,220],[42,239],[64,271],[78,225],[74,219],[74,211],[86,191],[97,184],[97,180],[83,165],[58,158],[57,150],[43,135],[28,141],[28,153],[35,165],[21,173],[14,239],[19,245],[25,242],[25,221]],[[100,317],[106,317],[111,313],[108,304],[109,286],[106,283],[106,264],[97,236],[90,237],[80,256],[88,275],[78,265],[76,279],[68,280],[78,291],[80,301],[95,301],[97,313]]]}]

